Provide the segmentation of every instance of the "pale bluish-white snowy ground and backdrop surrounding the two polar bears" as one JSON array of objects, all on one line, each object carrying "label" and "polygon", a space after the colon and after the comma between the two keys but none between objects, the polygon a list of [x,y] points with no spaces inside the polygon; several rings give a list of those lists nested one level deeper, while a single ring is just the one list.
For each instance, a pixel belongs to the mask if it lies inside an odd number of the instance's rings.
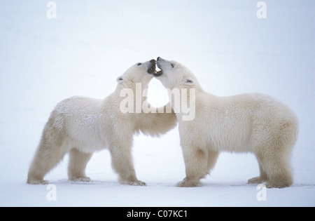
[{"label": "pale bluish-white snowy ground and backdrop surrounding the two polar bears", "polygon": [[[0,0],[0,206],[315,206],[314,1],[48,1]],[[161,138],[138,135],[133,156],[146,187],[120,185],[104,150],[87,165],[91,183],[67,181],[67,157],[45,179],[27,185],[27,170],[50,112],[73,95],[102,99],[137,62],[161,56],[186,65],[215,95],[265,93],[300,121],[293,150],[294,184],[247,185],[258,175],[252,154],[222,153],[204,186],[179,188],[185,177],[176,129]],[[150,92],[151,91],[151,92]],[[153,79],[151,100],[165,102]],[[155,105],[153,103],[153,105]]]}]

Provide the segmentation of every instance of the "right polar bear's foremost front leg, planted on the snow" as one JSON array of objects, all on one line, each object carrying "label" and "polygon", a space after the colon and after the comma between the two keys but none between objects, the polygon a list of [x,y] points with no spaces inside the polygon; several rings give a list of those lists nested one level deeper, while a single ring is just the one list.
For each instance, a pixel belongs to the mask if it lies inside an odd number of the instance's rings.
[{"label": "right polar bear's foremost front leg, planted on the snow", "polygon": [[186,167],[186,178],[177,184],[178,187],[200,187],[200,179],[208,173],[208,151],[200,147],[183,145],[183,157]]}]

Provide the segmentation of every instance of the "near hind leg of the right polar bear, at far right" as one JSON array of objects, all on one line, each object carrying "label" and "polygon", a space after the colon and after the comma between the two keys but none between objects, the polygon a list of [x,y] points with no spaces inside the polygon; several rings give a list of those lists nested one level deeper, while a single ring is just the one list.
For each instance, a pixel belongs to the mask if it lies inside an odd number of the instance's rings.
[{"label": "near hind leg of the right polar bear, at far right", "polygon": [[[254,147],[260,165],[260,178],[268,188],[284,188],[293,184],[290,154],[297,138],[296,119],[283,119],[269,130],[262,130]],[[262,139],[263,138],[263,139]],[[248,180],[253,182],[254,179]]]}]

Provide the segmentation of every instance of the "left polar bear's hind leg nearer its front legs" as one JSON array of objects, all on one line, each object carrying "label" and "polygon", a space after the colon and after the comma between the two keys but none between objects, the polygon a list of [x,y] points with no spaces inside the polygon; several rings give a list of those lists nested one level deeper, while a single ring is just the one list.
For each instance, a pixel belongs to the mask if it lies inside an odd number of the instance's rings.
[{"label": "left polar bear's hind leg nearer its front legs", "polygon": [[85,175],[85,168],[90,161],[92,154],[80,152],[78,149],[71,149],[69,153],[68,177],[70,181],[90,182]]}]

